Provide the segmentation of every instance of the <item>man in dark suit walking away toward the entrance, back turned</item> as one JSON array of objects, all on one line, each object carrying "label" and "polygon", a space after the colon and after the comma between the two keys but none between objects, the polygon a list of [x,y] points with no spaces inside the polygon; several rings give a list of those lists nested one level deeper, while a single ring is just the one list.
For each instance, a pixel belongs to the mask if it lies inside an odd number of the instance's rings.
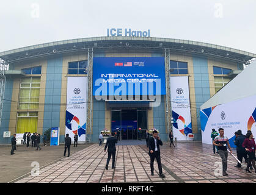
[{"label": "man in dark suit walking away toward the entrance, back turned", "polygon": [[115,144],[117,143],[117,138],[115,137],[115,133],[112,132],[111,133],[111,137],[108,138],[107,143],[104,147],[104,152],[106,152],[106,149],[108,147],[108,160],[106,163],[106,169],[108,170],[108,164],[112,155],[112,169],[115,168],[115,151],[117,151],[115,149]]}]

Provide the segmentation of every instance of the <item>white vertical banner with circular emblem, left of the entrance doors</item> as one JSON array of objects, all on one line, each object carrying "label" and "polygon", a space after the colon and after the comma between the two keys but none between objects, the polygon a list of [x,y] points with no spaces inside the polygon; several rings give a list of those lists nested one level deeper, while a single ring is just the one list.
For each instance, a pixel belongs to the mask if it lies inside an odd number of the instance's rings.
[{"label": "white vertical banner with circular emblem, left of the entrance doors", "polygon": [[86,141],[87,77],[68,77],[65,134],[74,141]]}]

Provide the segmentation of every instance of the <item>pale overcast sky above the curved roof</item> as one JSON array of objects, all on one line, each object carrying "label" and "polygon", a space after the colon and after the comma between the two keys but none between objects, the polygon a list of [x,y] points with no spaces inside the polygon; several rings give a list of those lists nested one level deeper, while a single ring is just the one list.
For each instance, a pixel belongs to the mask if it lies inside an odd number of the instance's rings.
[{"label": "pale overcast sky above the curved roof", "polygon": [[0,21],[0,51],[131,28],[256,54],[255,0],[1,0]]}]

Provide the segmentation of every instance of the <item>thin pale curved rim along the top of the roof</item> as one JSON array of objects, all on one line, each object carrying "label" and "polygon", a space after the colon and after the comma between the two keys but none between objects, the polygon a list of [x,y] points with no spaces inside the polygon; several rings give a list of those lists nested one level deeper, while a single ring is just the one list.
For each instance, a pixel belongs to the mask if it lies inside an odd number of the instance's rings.
[{"label": "thin pale curved rim along the top of the roof", "polygon": [[[35,44],[32,46],[26,46],[23,48],[12,49],[9,51],[0,52],[0,58],[5,59],[5,57],[10,55],[15,55],[21,52],[28,52],[33,51],[35,49],[45,49],[45,48],[58,48],[64,46],[65,44],[78,44],[78,43],[87,43],[93,41],[146,41],[146,42],[159,42],[159,43],[166,43],[166,44],[187,44],[189,46],[197,46],[202,48],[209,48],[215,49],[225,52],[232,52],[233,54],[238,55],[245,55],[247,59],[256,58],[256,54],[251,52],[242,51],[240,49],[233,49],[225,46],[220,46],[218,44],[211,44],[211,43],[203,43],[199,41],[191,41],[191,40],[181,40],[175,38],[157,38],[157,37],[91,37],[91,38],[77,38],[71,40],[62,40],[62,41],[54,41],[49,43],[43,44]],[[182,49],[181,49],[182,50]],[[8,59],[8,57],[7,57]]]}]

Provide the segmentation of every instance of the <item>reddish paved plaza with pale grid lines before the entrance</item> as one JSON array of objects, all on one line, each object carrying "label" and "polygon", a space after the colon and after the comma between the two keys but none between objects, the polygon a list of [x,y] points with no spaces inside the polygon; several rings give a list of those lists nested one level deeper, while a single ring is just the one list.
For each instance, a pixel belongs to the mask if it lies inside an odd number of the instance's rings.
[{"label": "reddish paved plaza with pale grid lines before the entrance", "polygon": [[[40,169],[39,176],[28,176],[15,182],[53,182],[53,183],[98,183],[98,182],[167,182],[167,183],[224,183],[256,182],[256,174],[246,173],[245,165],[235,168],[236,162],[229,155],[227,173],[229,176],[215,176],[216,162],[221,162],[218,154],[213,154],[212,146],[202,143],[177,143],[161,147],[161,161],[166,178],[158,176],[155,161],[155,176],[150,175],[150,158],[145,145],[117,146],[116,168],[108,171],[107,152],[104,146],[92,144],[76,151],[69,158],[64,157]],[[235,152],[235,151],[234,151]],[[110,165],[112,160],[110,161]]]}]

